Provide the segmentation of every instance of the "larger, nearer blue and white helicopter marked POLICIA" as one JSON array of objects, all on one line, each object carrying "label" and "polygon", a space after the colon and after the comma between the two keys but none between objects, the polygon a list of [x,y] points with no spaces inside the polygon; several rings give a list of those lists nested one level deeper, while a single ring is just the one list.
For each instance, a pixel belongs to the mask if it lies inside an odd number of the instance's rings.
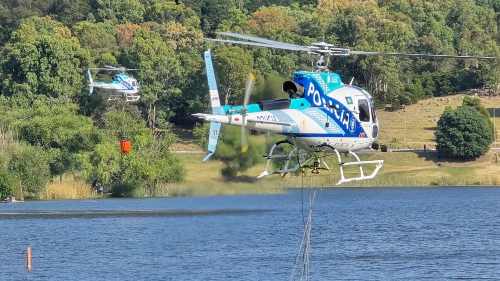
[{"label": "larger, nearer blue and white helicopter marked POLICIA", "polygon": [[[400,54],[356,51],[347,48],[336,48],[325,42],[314,43],[310,46],[300,46],[289,43],[241,35],[230,32],[218,32],[220,35],[230,36],[242,40],[225,40],[205,38],[210,41],[262,46],[268,48],[285,49],[292,51],[305,51],[319,57],[313,64],[313,71],[297,71],[289,81],[282,84],[282,90],[288,93],[288,99],[261,101],[248,104],[255,77],[250,74],[245,90],[242,106],[221,106],[215,73],[212,65],[210,50],[205,52],[207,77],[210,89],[212,114],[193,114],[210,124],[208,150],[209,154],[203,159],[207,160],[214,154],[219,137],[221,124],[242,127],[241,142],[242,152],[248,149],[245,128],[257,131],[275,133],[286,137],[285,140],[275,143],[264,157],[267,163],[264,171],[258,176],[271,174],[286,174],[299,168],[310,168],[313,173],[319,169],[331,170],[323,160],[327,154],[335,154],[339,162],[340,180],[344,182],[374,178],[382,167],[383,160],[361,161],[355,151],[362,149],[381,149],[387,147],[376,143],[379,123],[373,100],[370,94],[357,86],[344,84],[337,73],[330,72],[328,62],[332,56],[350,55],[377,55],[395,57],[423,57],[423,58],[470,58],[470,59],[500,59],[497,57],[455,56],[455,55],[429,55],[429,54]],[[326,58],[326,62],[325,62]],[[275,155],[275,148],[288,144],[293,147],[289,153]],[[313,156],[308,157],[310,152]],[[352,156],[355,161],[342,162],[341,153]],[[272,159],[285,158],[286,162],[280,169],[269,171]],[[290,167],[290,160],[296,159],[297,163]],[[321,163],[323,162],[323,163]],[[371,174],[364,174],[363,165],[375,164]],[[323,165],[323,166],[322,166]],[[343,167],[358,165],[360,175],[346,178]]]}]

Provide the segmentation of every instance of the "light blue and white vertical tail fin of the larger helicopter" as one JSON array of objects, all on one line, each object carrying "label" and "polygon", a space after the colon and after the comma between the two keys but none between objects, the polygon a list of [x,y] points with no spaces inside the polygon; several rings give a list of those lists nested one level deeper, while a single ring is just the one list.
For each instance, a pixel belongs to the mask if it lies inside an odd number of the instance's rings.
[{"label": "light blue and white vertical tail fin of the larger helicopter", "polygon": [[[212,65],[212,55],[210,50],[205,52],[205,66],[207,68],[207,78],[209,81],[210,103],[212,105],[212,114],[218,115],[221,110],[221,101],[219,100],[219,91],[217,90],[217,81],[215,80],[214,66]],[[203,158],[206,161],[215,153],[217,141],[219,140],[219,132],[221,131],[221,123],[210,123],[209,135],[209,154]]]}]

